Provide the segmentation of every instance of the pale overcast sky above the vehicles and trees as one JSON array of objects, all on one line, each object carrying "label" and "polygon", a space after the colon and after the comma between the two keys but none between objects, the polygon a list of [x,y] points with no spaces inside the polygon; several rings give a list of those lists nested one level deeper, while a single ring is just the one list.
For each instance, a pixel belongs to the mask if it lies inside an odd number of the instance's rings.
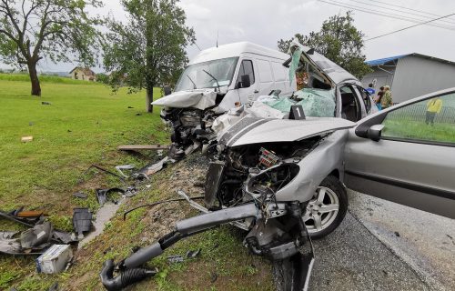
[{"label": "pale overcast sky above the vehicles and trees", "polygon": [[[326,1],[326,0],[324,0]],[[374,13],[430,20],[438,15],[455,13],[455,1],[447,0],[327,0],[339,5],[358,6],[359,9]],[[102,14],[112,13],[117,19],[125,19],[119,0],[104,0],[106,6]],[[397,6],[409,7],[405,10]],[[288,39],[296,33],[308,34],[319,31],[322,22],[331,15],[344,14],[348,8],[329,5],[318,0],[181,0],[180,4],[187,13],[187,25],[196,31],[197,45],[201,49],[218,44],[238,41],[250,41],[259,45],[277,48],[280,38]],[[384,9],[378,6],[389,7]],[[363,8],[362,8],[363,7]],[[404,12],[399,12],[404,11]],[[431,15],[424,18],[418,12]],[[411,15],[413,14],[413,15]],[[381,15],[372,15],[354,11],[355,25],[367,38],[387,34],[400,28],[414,25],[409,21],[392,19]],[[453,30],[420,25],[393,35],[380,37],[365,43],[367,59],[376,59],[391,55],[420,53],[455,61],[455,16],[445,18],[439,25],[450,25]],[[188,56],[197,54],[196,46],[188,47]],[[45,71],[66,71],[75,64],[41,64]],[[97,70],[99,71],[99,69]]]}]

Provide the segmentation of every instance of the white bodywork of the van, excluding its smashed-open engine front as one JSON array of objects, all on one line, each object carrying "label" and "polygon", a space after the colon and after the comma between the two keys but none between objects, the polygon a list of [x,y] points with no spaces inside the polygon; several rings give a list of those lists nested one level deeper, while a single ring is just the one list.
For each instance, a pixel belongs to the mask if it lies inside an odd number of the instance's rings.
[{"label": "white bodywork of the van, excluding its smashed-open engine front", "polygon": [[[248,42],[211,47],[191,60],[174,92],[185,91],[195,102],[197,97],[192,93],[199,93],[201,89],[217,92],[217,113],[226,112],[236,102],[248,105],[272,90],[280,90],[280,95],[292,95],[296,83],[289,84],[288,68],[282,65],[288,58],[288,54]],[[158,99],[153,105],[179,108],[193,105],[190,100],[182,99],[184,94],[176,95],[178,100],[173,100],[173,95]]]}]

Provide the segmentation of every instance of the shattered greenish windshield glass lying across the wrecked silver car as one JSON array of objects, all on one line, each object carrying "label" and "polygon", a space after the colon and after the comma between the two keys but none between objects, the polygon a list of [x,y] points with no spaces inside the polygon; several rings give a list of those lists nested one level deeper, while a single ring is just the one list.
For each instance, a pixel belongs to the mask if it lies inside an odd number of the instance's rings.
[{"label": "shattered greenish windshield glass lying across the wrecked silver car", "polygon": [[306,116],[334,117],[335,116],[335,90],[303,88],[294,93],[292,99],[288,97],[265,96],[259,98],[260,102],[288,113],[291,105],[302,105]]}]

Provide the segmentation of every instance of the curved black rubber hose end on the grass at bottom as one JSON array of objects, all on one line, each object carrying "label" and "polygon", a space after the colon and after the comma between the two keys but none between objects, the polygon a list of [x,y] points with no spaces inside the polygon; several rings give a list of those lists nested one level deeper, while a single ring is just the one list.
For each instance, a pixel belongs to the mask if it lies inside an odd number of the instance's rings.
[{"label": "curved black rubber hose end on the grass at bottom", "polygon": [[112,259],[106,260],[99,276],[101,277],[101,283],[103,283],[103,286],[105,286],[108,291],[122,290],[126,286],[143,280],[149,276],[154,276],[156,272],[142,268],[133,268],[127,269],[125,272],[122,272],[116,277],[114,277],[113,274],[114,261]]}]

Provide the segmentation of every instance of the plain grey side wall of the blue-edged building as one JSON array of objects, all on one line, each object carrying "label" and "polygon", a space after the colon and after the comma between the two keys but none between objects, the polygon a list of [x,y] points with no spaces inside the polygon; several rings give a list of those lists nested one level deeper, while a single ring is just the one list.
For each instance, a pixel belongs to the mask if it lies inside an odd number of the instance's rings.
[{"label": "plain grey side wall of the blue-edged building", "polygon": [[455,65],[410,55],[399,59],[391,91],[393,102],[403,102],[450,87],[455,87]]}]

